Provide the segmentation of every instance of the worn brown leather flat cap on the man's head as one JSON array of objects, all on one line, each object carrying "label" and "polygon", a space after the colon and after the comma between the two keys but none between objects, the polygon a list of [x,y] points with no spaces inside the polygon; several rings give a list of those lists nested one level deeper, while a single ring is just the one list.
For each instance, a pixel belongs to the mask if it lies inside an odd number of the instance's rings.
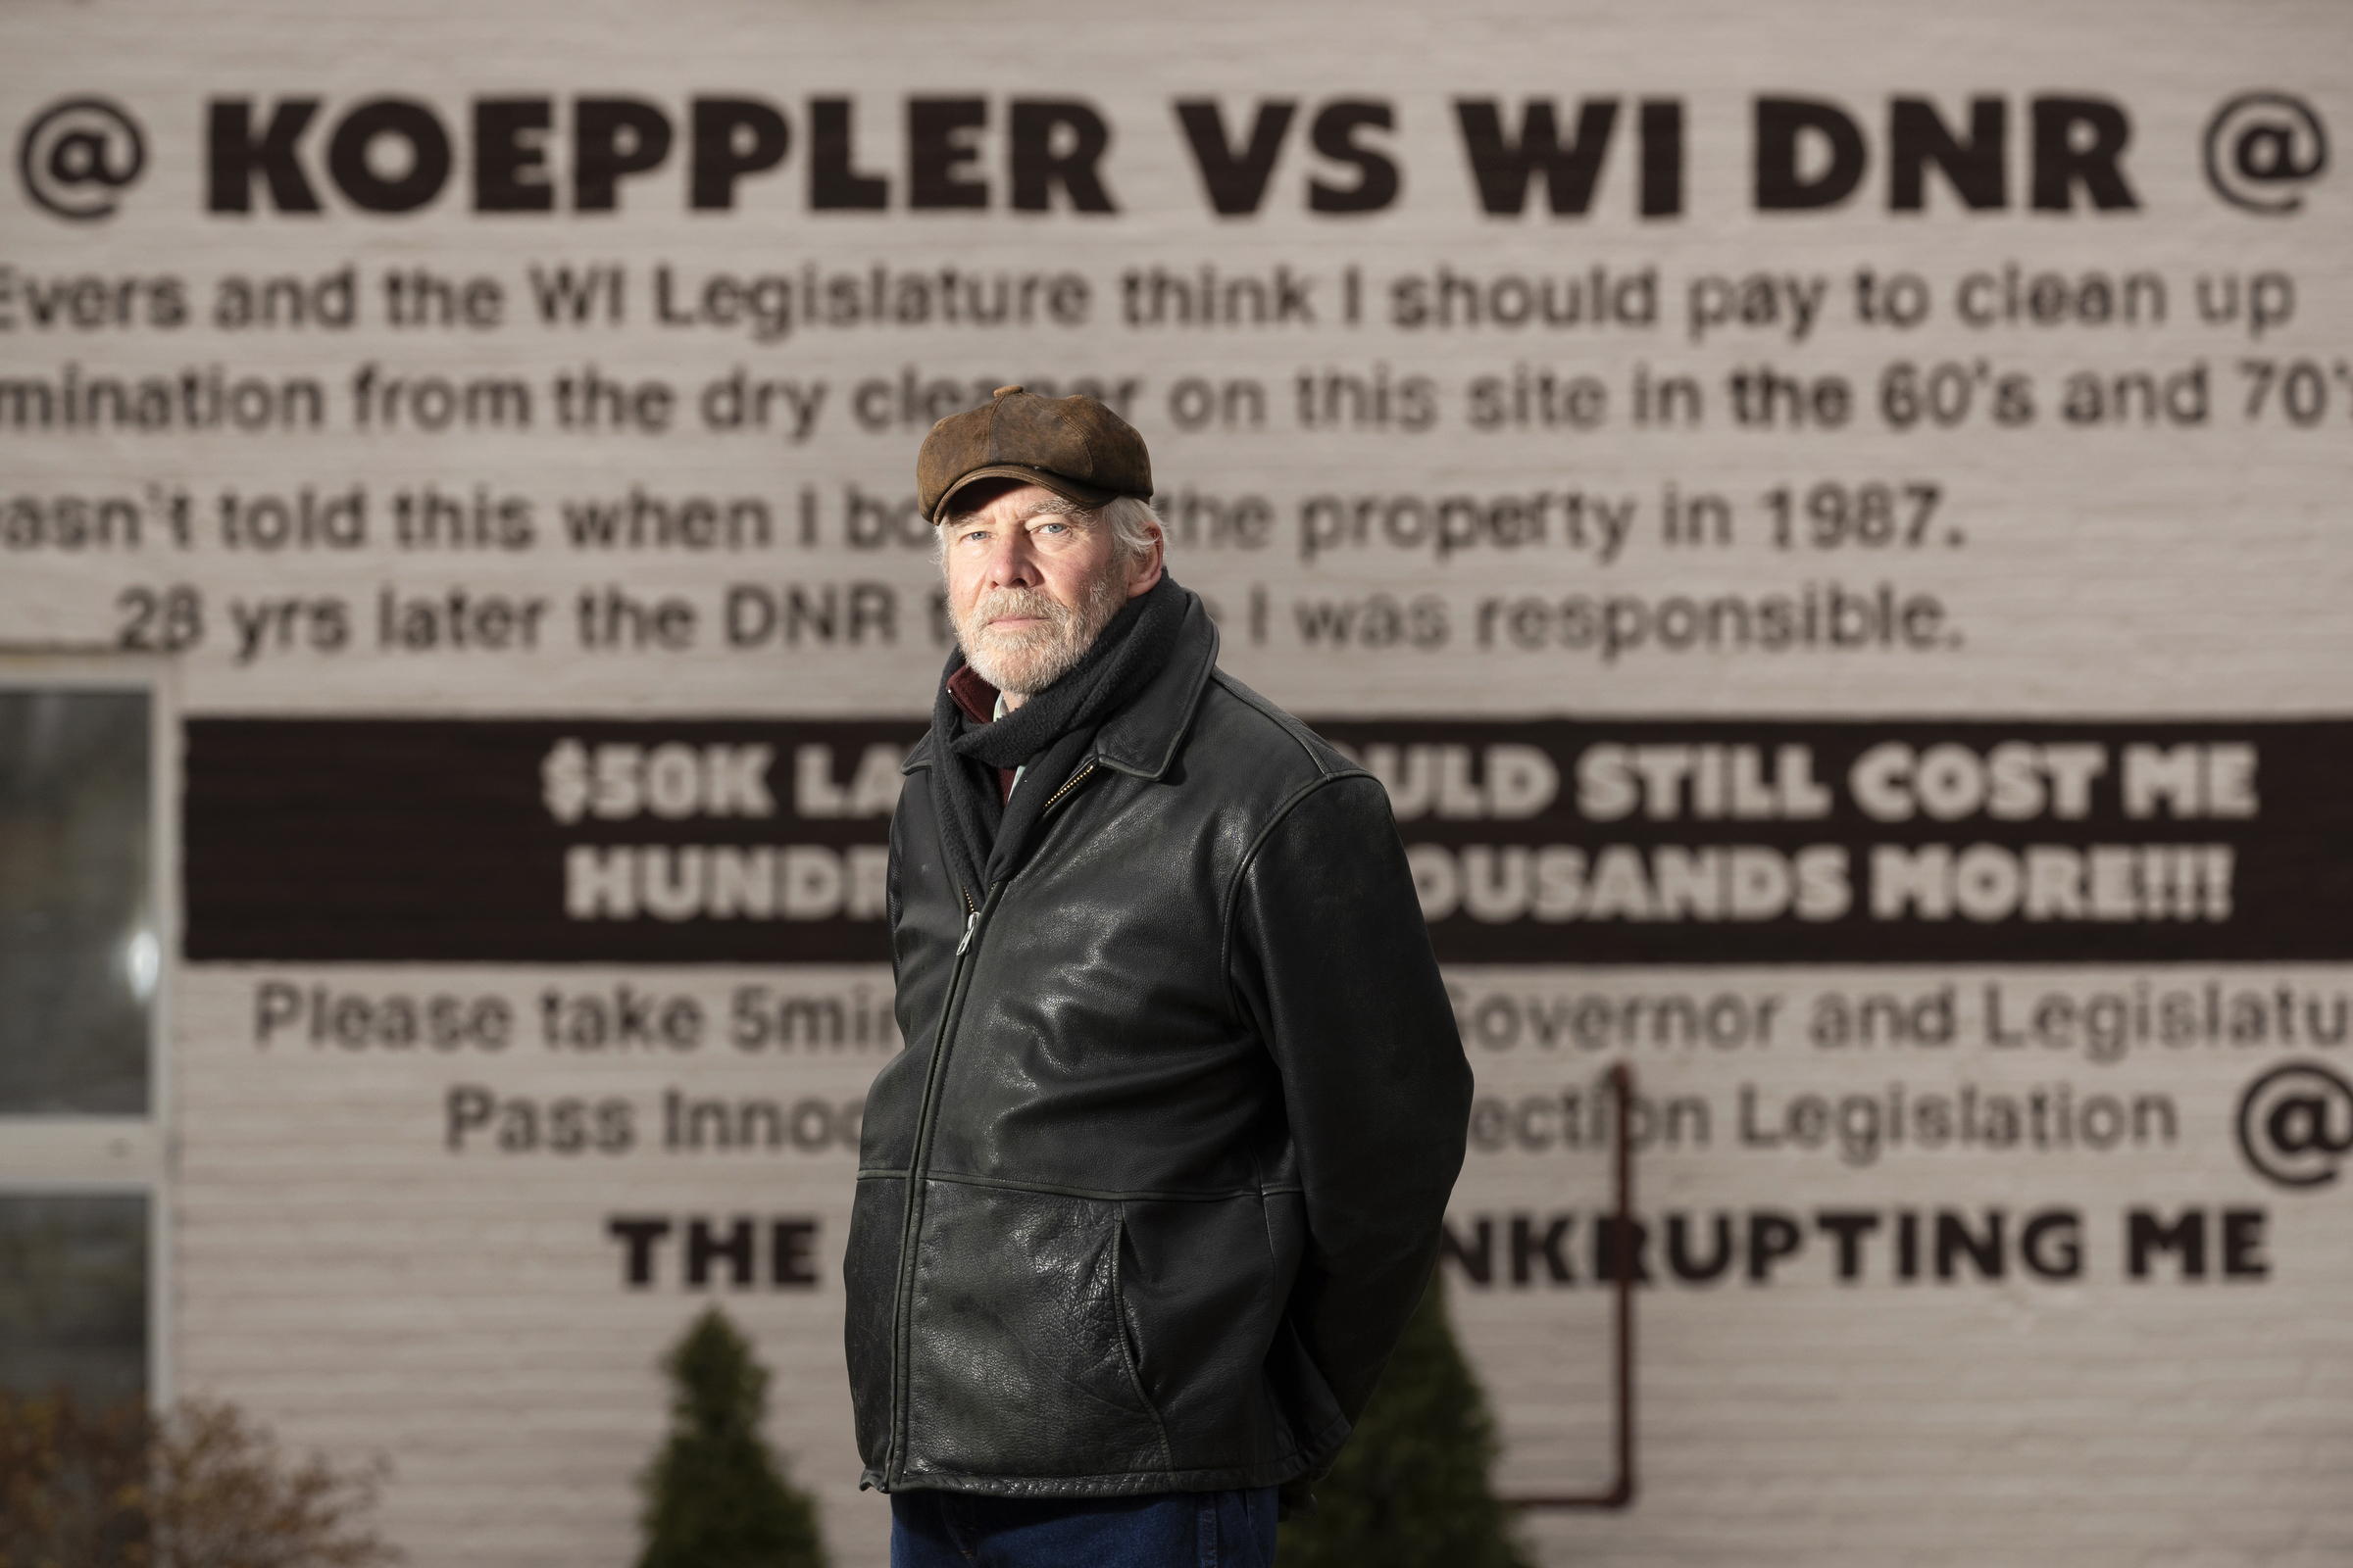
[{"label": "worn brown leather flat cap on the man's head", "polygon": [[1000,386],[981,409],[932,425],[915,454],[915,501],[932,522],[974,480],[1045,484],[1066,501],[1104,505],[1153,494],[1153,456],[1125,418],[1094,397],[1038,397]]}]

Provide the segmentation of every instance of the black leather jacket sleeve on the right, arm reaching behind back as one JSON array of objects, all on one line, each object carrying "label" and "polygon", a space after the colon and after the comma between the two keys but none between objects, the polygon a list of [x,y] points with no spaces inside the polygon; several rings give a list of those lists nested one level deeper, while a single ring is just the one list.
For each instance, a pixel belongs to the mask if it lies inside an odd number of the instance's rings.
[{"label": "black leather jacket sleeve on the right, arm reaching behind back", "polygon": [[1471,1065],[1374,778],[1313,785],[1259,842],[1231,976],[1282,1077],[1306,1190],[1292,1324],[1353,1425],[1438,1260],[1471,1119]]}]

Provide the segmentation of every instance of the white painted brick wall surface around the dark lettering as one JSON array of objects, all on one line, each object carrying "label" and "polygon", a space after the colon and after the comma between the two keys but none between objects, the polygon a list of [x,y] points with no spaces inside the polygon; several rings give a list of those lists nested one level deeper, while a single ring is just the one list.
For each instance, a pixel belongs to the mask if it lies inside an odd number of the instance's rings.
[{"label": "white painted brick wall surface around the dark lettering", "polygon": [[[2334,5],[2073,5],[2000,0],[1965,9],[1889,12],[1668,5],[1537,7],[1209,5],[1181,14],[1148,7],[1052,7],[1038,0],[976,14],[936,2],[840,7],[671,5],[659,19],[616,5],[447,5],[400,0],[320,14],[296,5],[202,9],[136,0],[59,5],[28,0],[0,14],[0,120],[26,122],[42,103],[104,92],[141,115],[148,174],[122,214],[68,226],[16,190],[0,193],[0,266],[19,294],[0,292],[0,376],[155,374],[181,364],[315,374],[332,397],[360,362],[388,374],[527,374],[595,360],[612,374],[666,376],[694,388],[734,364],[765,376],[826,378],[831,414],[800,447],[682,430],[668,437],[355,433],[341,421],[304,437],[0,433],[0,503],[24,496],[188,487],[289,491],[367,484],[374,541],[351,555],[224,550],[198,512],[200,543],[122,550],[0,550],[0,642],[111,642],[118,595],[186,583],[212,607],[212,635],[179,661],[172,698],[186,715],[920,715],[939,649],[911,609],[889,649],[824,649],[798,658],[727,651],[706,639],[685,654],[579,654],[551,632],[529,654],[398,654],[372,644],[384,588],[440,595],[551,595],[565,628],[569,595],[626,585],[704,607],[706,630],[725,585],[739,581],[847,581],[894,585],[911,607],[929,590],[915,550],[864,552],[840,543],[845,484],[882,496],[911,491],[911,428],[861,430],[847,418],[852,386],[925,376],[1136,376],[1136,423],[1153,442],[1165,489],[1261,494],[1275,529],[1264,552],[1179,552],[1172,564],[1228,611],[1226,663],[1285,705],[1320,715],[1527,715],[1614,717],[2252,717],[2344,715],[2353,703],[2353,552],[2341,496],[2348,461],[2341,418],[2353,388],[2337,386],[2332,428],[2306,433],[2233,418],[2245,388],[2233,362],[2249,353],[2315,362],[2353,355],[2353,275],[2341,172],[2308,193],[2292,219],[2254,219],[2221,205],[2198,167],[2207,118],[2231,94],[2278,87],[2311,99],[2339,132],[2353,127],[2353,35]],[[2127,169],[2137,214],[2038,216],[2024,212],[2026,96],[2057,87],[2120,99],[2132,110]],[[202,214],[200,129],[216,94],[327,99],[320,125],[374,94],[419,96],[459,141],[452,195],[412,219],[355,214],[332,190],[322,219]],[[793,120],[793,153],[776,176],[746,181],[744,209],[718,219],[682,212],[680,158],[624,181],[614,216],[480,216],[466,209],[464,106],[482,94],[626,92],[682,115],[696,92],[748,92]],[[901,183],[899,101],[918,92],[1080,94],[1115,127],[1115,216],[809,214],[805,153],[809,94],[859,103],[861,160]],[[1748,202],[1748,99],[1760,92],[1847,103],[1873,141],[1873,165],[1852,207],[1833,214],[1758,214]],[[1958,216],[1932,176],[1932,212],[1885,212],[1880,134],[1889,94],[1932,94],[1948,115],[1972,92],[2009,103],[2012,212]],[[1311,115],[1332,96],[1398,103],[1381,139],[1405,169],[1400,205],[1332,219],[1306,212],[1311,174],[1337,169],[1292,146],[1259,219],[1209,216],[1169,101],[1217,94],[1228,125],[1257,96],[1301,99]],[[1494,94],[1619,94],[1621,136],[1633,99],[1689,106],[1689,209],[1633,216],[1633,162],[1621,143],[1605,165],[1593,216],[1482,219],[1471,197],[1449,101]],[[1565,113],[1567,118],[1567,113]],[[558,120],[558,169],[562,127]],[[1301,120],[1304,125],[1304,120]],[[1294,129],[1294,141],[1301,136]],[[976,169],[1002,197],[1002,143],[991,132]],[[322,132],[306,143],[313,172]],[[680,132],[685,146],[685,132]],[[896,197],[894,197],[896,200]],[[1541,202],[1541,197],[1539,197]],[[565,202],[560,202],[565,205]],[[224,334],[205,324],[205,289],[231,270],[318,275],[346,261],[376,277],[391,266],[506,282],[511,322],[499,331],[400,334],[369,317],[348,334]],[[616,261],[633,270],[631,320],[560,334],[527,320],[532,263]],[[659,327],[645,280],[824,268],[960,266],[974,270],[1073,268],[1094,282],[1094,322],[1026,336],[936,329],[802,329],[784,343],[744,331]],[[2155,268],[2172,287],[2162,327],[2005,327],[1972,331],[1944,315],[1948,289],[1972,268]],[[1118,275],[1129,266],[1217,266],[1224,275],[1289,266],[1315,273],[1315,329],[1132,331],[1118,324]],[[1661,322],[1647,331],[1435,334],[1332,322],[1339,273],[1381,282],[1452,266],[1466,273],[1581,275],[1657,266]],[[1859,266],[1918,270],[1939,287],[1939,320],[1913,331],[1871,329],[1840,303]],[[2278,268],[2297,280],[2297,315],[2271,339],[2205,327],[2191,310],[2202,270]],[[198,322],[158,329],[33,329],[24,280],[179,273],[198,284]],[[1802,343],[1784,329],[1722,329],[1692,341],[1687,284],[1701,275],[1807,275],[1835,280],[1821,327]],[[2169,369],[2207,360],[2217,418],[2207,428],[2064,430],[2047,418],[2021,433],[1889,433],[1859,418],[1842,433],[1767,435],[1722,418],[1720,386],[1734,364],[1772,360],[1807,376],[1845,374],[1873,386],[1889,357],[1988,357],[2054,386],[2082,364],[2106,371]],[[1447,395],[1478,374],[1546,364],[1602,376],[1624,390],[1645,367],[1697,374],[1711,388],[1699,433],[1506,435],[1466,430],[1449,402],[1442,430],[1301,433],[1289,386],[1301,369],[1435,376]],[[1275,400],[1261,433],[1184,433],[1167,414],[1181,376],[1257,376]],[[1946,487],[1962,548],[1892,567],[1774,555],[1753,531],[1727,552],[1666,552],[1638,536],[1598,567],[1586,557],[1464,552],[1386,545],[1304,562],[1297,515],[1313,494],[1506,494],[1600,489],[1647,508],[1664,482],[1755,496],[1814,480],[1932,477]],[[513,555],[421,555],[386,541],[386,496],[433,482],[475,482],[532,498],[541,545]],[[621,494],[762,494],[784,534],[795,498],[814,487],[824,543],[762,557],[581,557],[560,543],[558,501]],[[1744,529],[1753,529],[1755,512]],[[1852,656],[1506,656],[1468,639],[1464,607],[1480,595],[1751,592],[1807,576],[1897,576],[1951,607],[1960,646],[1885,658]],[[1285,623],[1294,597],[1391,592],[1452,595],[1457,637],[1442,654],[1301,651],[1280,637],[1252,646],[1235,632],[1252,585],[1275,595]],[[344,595],[360,616],[353,649],[238,658],[228,604],[285,595]],[[2315,846],[2315,863],[2346,844]],[[885,1505],[856,1493],[847,1392],[840,1373],[838,1258],[847,1225],[852,1154],[779,1152],[685,1157],[638,1150],[499,1154],[447,1150],[454,1084],[499,1095],[624,1095],[642,1117],[666,1086],[699,1095],[819,1095],[856,1100],[873,1056],[751,1058],[722,1041],[678,1058],[574,1058],[536,1041],[532,1009],[546,985],[692,992],[725,1013],[736,980],[866,983],[878,969],[664,971],[532,966],[233,966],[176,964],[167,1112],[176,1147],[169,1173],[172,1298],[165,1378],[179,1392],[226,1394],[275,1422],[299,1446],[339,1458],[386,1453],[398,1479],[386,1526],[412,1561],[433,1568],[619,1566],[635,1552],[633,1476],[664,1429],[661,1349],[711,1295],[675,1276],[675,1237],[656,1286],[621,1279],[624,1248],[605,1234],[614,1213],[809,1215],[819,1222],[812,1291],[720,1291],[774,1371],[772,1436],[821,1505],[838,1561],[885,1561]],[[2346,966],[2108,966],[2038,969],[1534,969],[1452,973],[1466,999],[1499,987],[1527,994],[1607,997],[1744,990],[1784,997],[1805,1016],[1824,992],[1925,992],[1986,983],[2047,987],[2294,985],[2320,997],[2353,987]],[[518,1011],[518,1041],[485,1060],[348,1053],[254,1039],[261,980],[372,994],[501,994]],[[1706,1147],[1654,1150],[1640,1161],[1640,1208],[1786,1211],[1807,1222],[1805,1248],[1769,1286],[1661,1281],[1640,1302],[1642,1493],[1626,1514],[1532,1519],[1555,1563],[1621,1568],[1751,1568],[1809,1563],[2275,1563],[2353,1559],[2353,1208],[2344,1185],[2289,1192],[2247,1171],[2231,1117],[2254,1072],[2322,1060],[2346,1072],[2344,1046],[2278,1044],[2186,1051],[2141,1048],[2113,1065],[2080,1053],[2002,1051],[1962,1030],[1944,1051],[1828,1053],[1795,1032],[1765,1048],[1649,1048],[1628,1053],[1647,1095],[1701,1095]],[[1520,1100],[1588,1084],[1607,1053],[1473,1044],[1482,1095]],[[2179,1140],[2092,1152],[1904,1150],[1871,1164],[1833,1152],[1744,1147],[1739,1091],[1781,1105],[1798,1093],[2024,1091],[2162,1093],[2179,1110]],[[1567,1288],[1475,1288],[1454,1281],[1454,1314],[1508,1439],[1499,1483],[1511,1490],[1591,1488],[1607,1479],[1607,1295],[1591,1284],[1586,1225],[1607,1199],[1600,1152],[1475,1150],[1454,1201],[1457,1225],[1511,1213],[1574,1211]],[[1819,1208],[1939,1206],[2012,1215],[2071,1206],[2085,1218],[2078,1281],[1887,1276],[1887,1232],[1871,1239],[1866,1276],[1838,1284],[1833,1246],[1812,1227]],[[2184,1206],[2261,1208],[2268,1276],[2125,1279],[2122,1213]],[[1504,1239],[1499,1237],[1499,1246]],[[1654,1239],[1657,1246],[1657,1239]],[[2219,1244],[2217,1244],[2219,1246]],[[1654,1258],[1657,1265],[1657,1258]],[[2209,1274],[2219,1253],[2209,1258]],[[1541,1267],[1539,1267],[1541,1274]],[[2169,1265],[2160,1265],[2169,1274]]]}]

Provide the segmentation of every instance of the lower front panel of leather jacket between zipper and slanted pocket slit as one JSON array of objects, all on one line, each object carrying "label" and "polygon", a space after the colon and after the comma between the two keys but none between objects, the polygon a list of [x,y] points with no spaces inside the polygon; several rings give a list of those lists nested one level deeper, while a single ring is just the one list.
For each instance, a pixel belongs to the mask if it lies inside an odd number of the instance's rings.
[{"label": "lower front panel of leather jacket between zipper and slanted pocket slit", "polygon": [[929,1180],[908,1335],[908,1469],[1169,1469],[1120,1302],[1120,1206]]}]

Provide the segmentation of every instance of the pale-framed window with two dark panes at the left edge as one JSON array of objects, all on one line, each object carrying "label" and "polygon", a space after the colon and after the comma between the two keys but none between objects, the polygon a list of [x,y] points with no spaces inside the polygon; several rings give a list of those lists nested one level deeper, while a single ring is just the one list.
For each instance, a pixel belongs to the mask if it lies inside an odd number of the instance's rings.
[{"label": "pale-framed window with two dark panes at the left edge", "polygon": [[167,947],[148,682],[0,661],[0,1387],[158,1392]]}]

